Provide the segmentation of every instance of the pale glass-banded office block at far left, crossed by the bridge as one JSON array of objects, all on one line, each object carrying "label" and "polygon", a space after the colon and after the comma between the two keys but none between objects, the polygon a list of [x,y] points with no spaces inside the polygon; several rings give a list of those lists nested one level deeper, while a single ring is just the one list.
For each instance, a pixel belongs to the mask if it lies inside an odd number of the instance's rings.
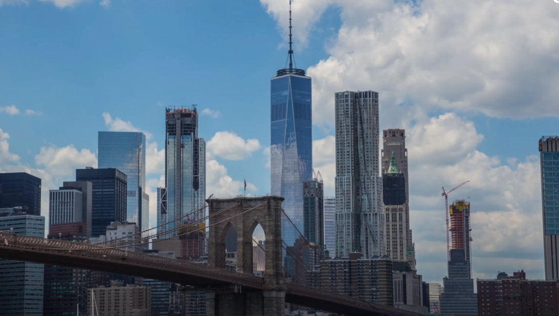
[{"label": "pale glass-banded office block at far left, crossed by the bridge", "polygon": [[[45,237],[45,218],[17,209],[0,209],[0,231]],[[0,259],[0,315],[42,315],[44,266]]]}]

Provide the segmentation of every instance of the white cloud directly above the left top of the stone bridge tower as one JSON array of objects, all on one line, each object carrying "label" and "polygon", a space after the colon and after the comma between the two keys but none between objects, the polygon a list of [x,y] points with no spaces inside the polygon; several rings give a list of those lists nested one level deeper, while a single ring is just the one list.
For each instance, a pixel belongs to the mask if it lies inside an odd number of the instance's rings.
[{"label": "white cloud directly above the left top of the stone bridge tower", "polygon": [[[256,191],[254,184],[247,182],[247,191]],[[234,197],[244,193],[244,179],[233,180],[227,173],[227,168],[217,160],[206,161],[206,195],[209,197]]]}]

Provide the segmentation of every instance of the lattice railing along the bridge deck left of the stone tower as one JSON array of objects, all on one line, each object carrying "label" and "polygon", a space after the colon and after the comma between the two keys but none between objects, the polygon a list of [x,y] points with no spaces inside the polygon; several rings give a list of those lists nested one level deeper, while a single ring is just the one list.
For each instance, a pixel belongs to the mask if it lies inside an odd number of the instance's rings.
[{"label": "lattice railing along the bridge deck left of the stone tower", "polygon": [[255,289],[262,289],[264,285],[264,279],[260,276],[241,274],[239,272],[211,267],[204,264],[117,250],[107,246],[89,245],[81,242],[59,241],[40,237],[0,233],[0,257],[2,248],[44,253],[60,253],[64,256],[88,257],[103,261],[116,261],[130,265],[148,266],[223,281],[224,283],[249,286]]}]

